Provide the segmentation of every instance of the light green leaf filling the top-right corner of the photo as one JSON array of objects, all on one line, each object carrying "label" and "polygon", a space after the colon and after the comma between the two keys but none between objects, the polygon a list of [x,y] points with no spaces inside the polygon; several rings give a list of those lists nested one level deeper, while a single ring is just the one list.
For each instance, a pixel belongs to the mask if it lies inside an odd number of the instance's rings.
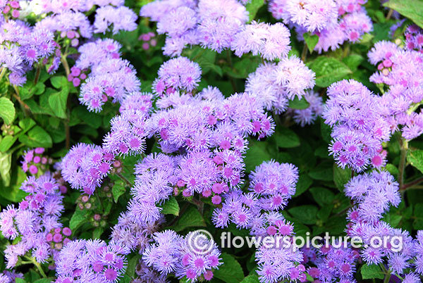
[{"label": "light green leaf filling the top-right corner of the photo", "polygon": [[389,0],[384,6],[397,11],[423,28],[422,0]]}]

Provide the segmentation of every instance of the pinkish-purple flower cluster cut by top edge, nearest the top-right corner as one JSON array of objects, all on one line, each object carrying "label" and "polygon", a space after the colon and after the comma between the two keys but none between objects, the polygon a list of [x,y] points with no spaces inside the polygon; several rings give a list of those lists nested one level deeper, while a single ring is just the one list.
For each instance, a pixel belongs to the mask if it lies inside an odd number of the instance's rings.
[{"label": "pinkish-purple flower cluster cut by top edge, nearest the top-right corner", "polygon": [[302,34],[317,34],[314,50],[337,49],[343,42],[358,42],[373,28],[372,20],[362,7],[366,0],[271,0],[269,11],[276,19],[295,27]]}]

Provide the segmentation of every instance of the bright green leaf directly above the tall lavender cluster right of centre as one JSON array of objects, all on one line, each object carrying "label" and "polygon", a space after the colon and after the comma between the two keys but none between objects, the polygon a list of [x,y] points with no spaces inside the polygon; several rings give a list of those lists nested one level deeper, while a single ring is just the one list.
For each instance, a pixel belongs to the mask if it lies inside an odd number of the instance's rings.
[{"label": "bright green leaf directly above the tall lavender cluster right of centre", "polygon": [[329,87],[333,82],[353,73],[347,65],[333,57],[320,56],[307,65],[316,73],[318,87]]}]

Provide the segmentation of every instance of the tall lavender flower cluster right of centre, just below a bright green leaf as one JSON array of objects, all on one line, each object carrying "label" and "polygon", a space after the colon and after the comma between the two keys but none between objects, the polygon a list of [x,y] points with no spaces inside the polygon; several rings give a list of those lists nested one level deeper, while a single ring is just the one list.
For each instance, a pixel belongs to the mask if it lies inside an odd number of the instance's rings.
[{"label": "tall lavender flower cluster right of centre, just below a bright green leaf", "polygon": [[381,111],[380,97],[355,80],[343,80],[328,88],[323,113],[333,127],[329,151],[341,168],[361,172],[367,166],[384,165],[390,131]]}]

